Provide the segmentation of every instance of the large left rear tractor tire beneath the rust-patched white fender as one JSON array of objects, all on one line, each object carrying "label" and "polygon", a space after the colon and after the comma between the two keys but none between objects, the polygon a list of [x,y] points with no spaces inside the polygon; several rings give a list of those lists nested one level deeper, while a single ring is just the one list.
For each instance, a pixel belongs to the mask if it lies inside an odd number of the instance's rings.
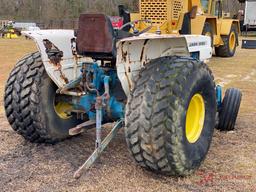
[{"label": "large left rear tractor tire beneath the rust-patched white fender", "polygon": [[54,105],[56,85],[48,77],[38,52],[21,59],[5,88],[4,106],[12,128],[26,140],[55,143],[68,137],[76,119],[61,118]]}]

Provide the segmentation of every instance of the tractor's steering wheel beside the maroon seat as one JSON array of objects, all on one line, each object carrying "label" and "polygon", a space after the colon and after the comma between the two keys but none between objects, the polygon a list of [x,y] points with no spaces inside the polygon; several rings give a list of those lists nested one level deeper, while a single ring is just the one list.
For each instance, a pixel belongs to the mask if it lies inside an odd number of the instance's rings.
[{"label": "tractor's steering wheel beside the maroon seat", "polygon": [[[143,29],[143,30],[141,30],[141,31],[139,31],[138,29],[136,29],[135,28],[135,26],[136,26],[136,24],[138,24],[138,23],[146,23],[147,25],[148,25],[148,27],[147,28],[145,28],[145,29]],[[134,36],[139,36],[139,35],[141,35],[141,34],[143,34],[143,33],[146,33],[146,32],[148,32],[150,29],[152,29],[152,27],[153,27],[153,23],[152,23],[152,21],[151,20],[148,20],[148,19],[141,19],[141,20],[135,20],[135,21],[131,21],[131,22],[129,22],[129,23],[126,23],[126,24],[124,24],[121,28],[120,28],[120,30],[123,30],[125,27],[131,27],[131,29],[133,30],[133,35]]]}]

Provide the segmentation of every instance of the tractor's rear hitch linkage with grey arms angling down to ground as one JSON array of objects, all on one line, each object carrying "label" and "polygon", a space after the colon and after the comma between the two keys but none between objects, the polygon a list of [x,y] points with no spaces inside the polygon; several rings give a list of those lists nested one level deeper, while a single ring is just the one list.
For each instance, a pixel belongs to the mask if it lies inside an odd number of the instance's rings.
[{"label": "tractor's rear hitch linkage with grey arms angling down to ground", "polygon": [[[115,138],[118,130],[123,126],[124,120],[123,118],[119,118],[118,121],[116,121],[114,127],[110,131],[110,133],[106,136],[106,138],[102,141],[102,122],[103,122],[103,115],[105,111],[110,112],[111,109],[109,106],[110,102],[110,82],[111,77],[108,75],[105,75],[103,73],[100,73],[100,69],[97,64],[93,64],[92,67],[89,67],[86,71],[82,71],[86,81],[84,82],[86,84],[87,91],[91,92],[92,94],[95,94],[95,110],[96,114],[95,116],[92,115],[90,120],[76,126],[75,128],[72,128],[69,130],[69,135],[77,135],[79,133],[82,133],[85,129],[89,129],[91,127],[94,127],[96,125],[96,141],[95,141],[95,150],[92,153],[92,155],[85,161],[85,163],[75,172],[74,178],[78,179],[82,175],[83,170],[88,170],[93,163],[100,157],[102,152],[105,150],[105,148],[108,146],[108,144],[112,141],[113,138]],[[93,72],[94,78],[91,78],[91,72]],[[101,74],[98,75],[97,74]],[[60,93],[63,91],[67,91],[70,88],[74,88],[80,84],[82,81],[82,77],[79,76],[76,80],[70,82],[68,85],[64,87],[64,89],[58,90]],[[97,82],[103,83],[104,91],[97,89]],[[102,95],[100,95],[102,94]],[[110,112],[111,113],[111,112]]]}]

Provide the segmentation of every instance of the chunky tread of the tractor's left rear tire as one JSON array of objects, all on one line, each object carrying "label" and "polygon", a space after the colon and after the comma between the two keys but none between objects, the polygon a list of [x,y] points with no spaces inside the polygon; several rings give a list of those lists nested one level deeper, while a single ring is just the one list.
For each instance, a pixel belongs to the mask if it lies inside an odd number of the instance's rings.
[{"label": "chunky tread of the tractor's left rear tire", "polygon": [[29,54],[20,60],[10,73],[5,87],[4,106],[12,128],[25,139],[35,143],[55,143],[44,124],[38,107],[40,87],[45,74],[41,55]]}]

